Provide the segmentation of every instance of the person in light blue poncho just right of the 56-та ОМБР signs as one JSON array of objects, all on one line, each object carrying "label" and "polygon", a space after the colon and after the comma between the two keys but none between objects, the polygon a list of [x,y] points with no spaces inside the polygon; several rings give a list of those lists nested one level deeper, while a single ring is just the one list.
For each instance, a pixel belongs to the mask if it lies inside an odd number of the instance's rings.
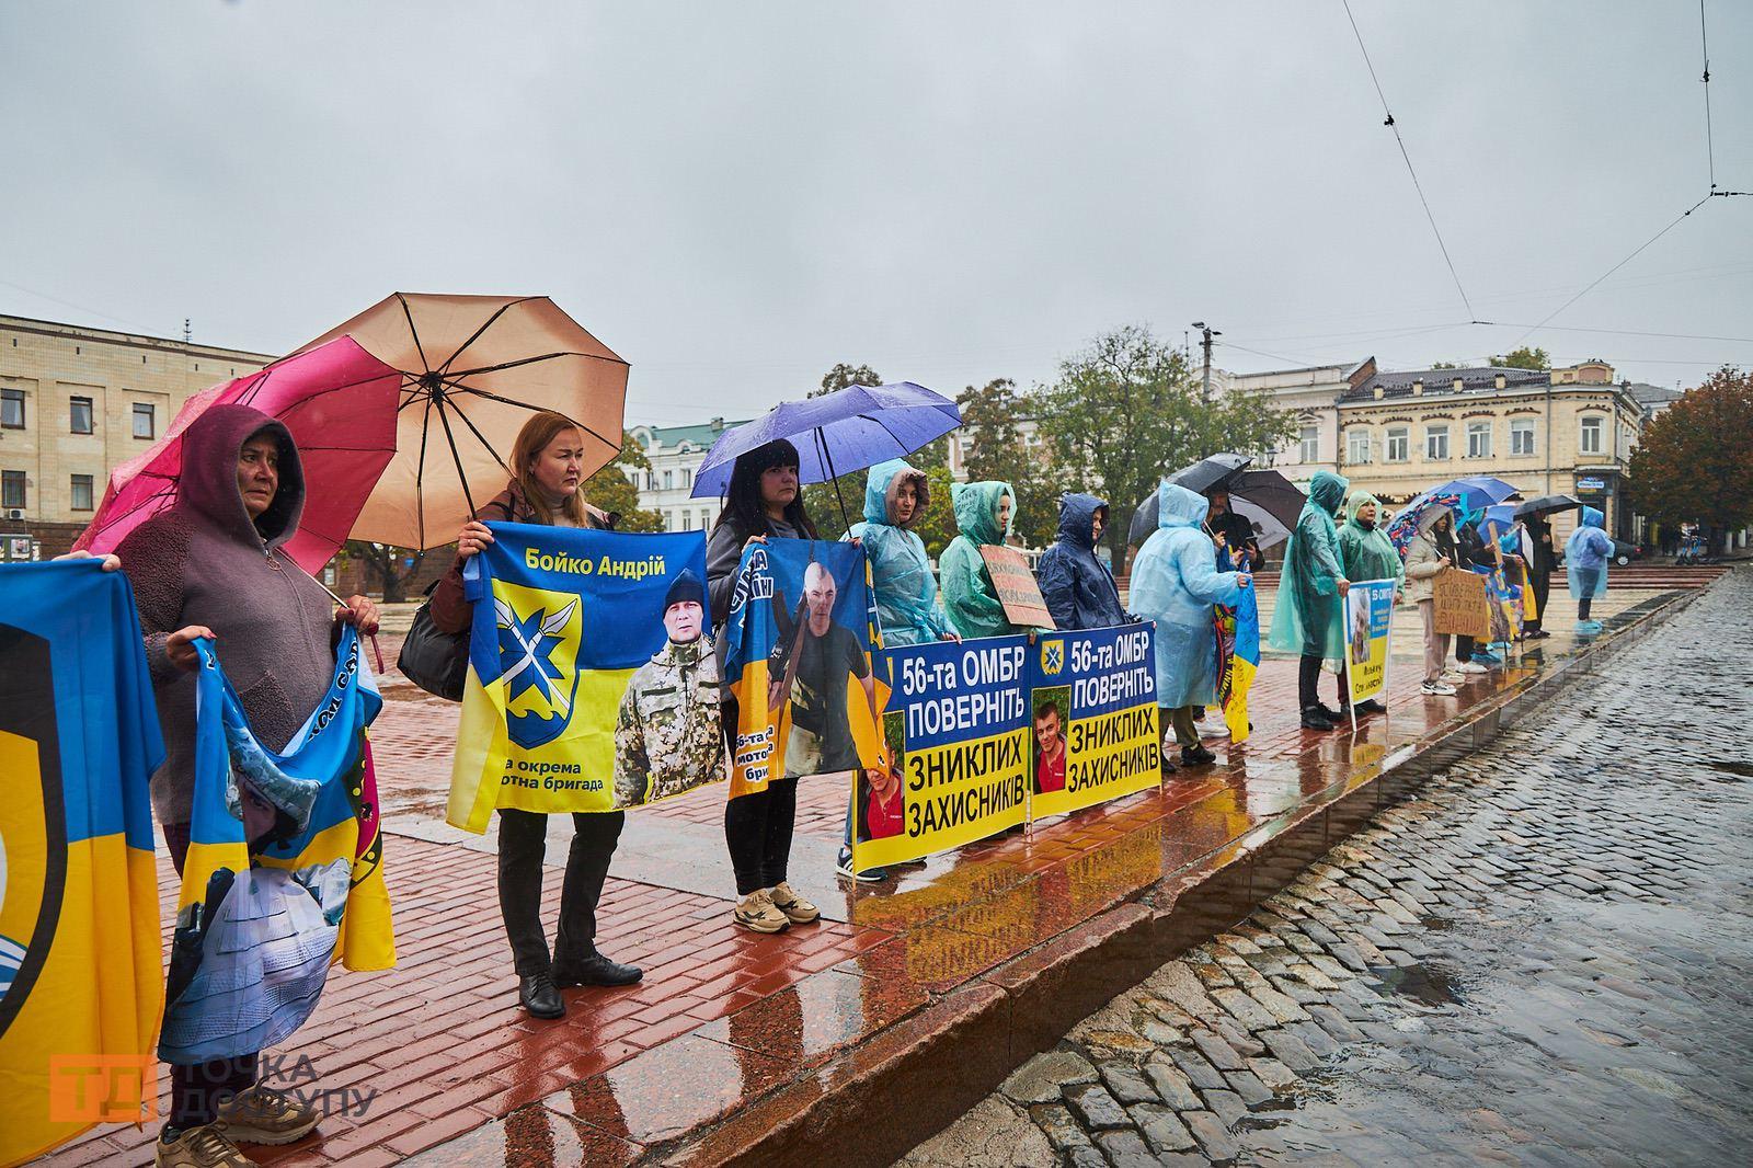
[{"label": "person in light blue poncho just right of the 56-\u0442\u0430 \u041e\u041c\u0411\u0420 signs", "polygon": [[1175,730],[1182,765],[1217,756],[1199,742],[1194,712],[1217,702],[1211,605],[1234,605],[1252,577],[1218,572],[1204,533],[1206,500],[1167,479],[1157,488],[1157,530],[1132,561],[1132,610],[1157,623],[1157,705]]}]

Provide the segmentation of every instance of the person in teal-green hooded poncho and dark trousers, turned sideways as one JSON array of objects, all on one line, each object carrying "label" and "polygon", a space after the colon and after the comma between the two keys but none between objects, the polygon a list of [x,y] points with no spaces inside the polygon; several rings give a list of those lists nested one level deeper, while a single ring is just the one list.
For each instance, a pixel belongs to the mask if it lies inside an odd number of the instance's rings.
[{"label": "person in teal-green hooded poncho and dark trousers, turned sideways", "polygon": [[1350,481],[1331,470],[1317,470],[1309,482],[1309,500],[1297,516],[1297,526],[1285,547],[1285,566],[1278,577],[1278,603],[1267,644],[1281,652],[1302,656],[1297,670],[1297,700],[1306,730],[1332,730],[1350,705],[1345,677],[1339,679],[1339,710],[1329,710],[1315,693],[1322,659],[1345,654],[1345,628],[1339,621],[1339,596],[1352,579],[1339,563],[1339,531],[1334,517],[1345,503]]}]

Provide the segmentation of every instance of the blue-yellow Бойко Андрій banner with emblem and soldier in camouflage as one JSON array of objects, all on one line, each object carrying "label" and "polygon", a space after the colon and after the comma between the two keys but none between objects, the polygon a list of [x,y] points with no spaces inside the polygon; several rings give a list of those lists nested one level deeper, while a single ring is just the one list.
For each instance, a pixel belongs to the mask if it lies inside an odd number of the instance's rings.
[{"label": "blue-yellow \u0411\u043e\u0439\u043a\u043e \u0410\u043d\u0434\u0440\u0456\u0439 banner with emblem and soldier in camouflage", "polygon": [[703,531],[491,523],[447,819],[607,812],[724,779]]}]

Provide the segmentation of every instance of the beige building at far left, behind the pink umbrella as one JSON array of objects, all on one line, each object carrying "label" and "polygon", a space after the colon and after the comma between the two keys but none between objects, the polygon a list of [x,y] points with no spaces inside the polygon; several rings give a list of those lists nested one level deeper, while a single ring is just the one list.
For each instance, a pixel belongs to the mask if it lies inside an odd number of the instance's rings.
[{"label": "beige building at far left, behind the pink umbrella", "polygon": [[0,537],[30,535],[44,558],[67,551],[110,470],[163,435],[191,393],[272,360],[0,316]]}]

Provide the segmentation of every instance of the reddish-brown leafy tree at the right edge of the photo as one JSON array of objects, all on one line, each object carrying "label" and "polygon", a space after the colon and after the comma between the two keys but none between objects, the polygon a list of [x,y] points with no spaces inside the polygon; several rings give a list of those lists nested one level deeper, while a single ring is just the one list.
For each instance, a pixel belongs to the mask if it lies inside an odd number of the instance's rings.
[{"label": "reddish-brown leafy tree at the right edge of the photo", "polygon": [[1753,524],[1753,374],[1725,365],[1657,414],[1629,466],[1637,510],[1704,523],[1713,538]]}]

